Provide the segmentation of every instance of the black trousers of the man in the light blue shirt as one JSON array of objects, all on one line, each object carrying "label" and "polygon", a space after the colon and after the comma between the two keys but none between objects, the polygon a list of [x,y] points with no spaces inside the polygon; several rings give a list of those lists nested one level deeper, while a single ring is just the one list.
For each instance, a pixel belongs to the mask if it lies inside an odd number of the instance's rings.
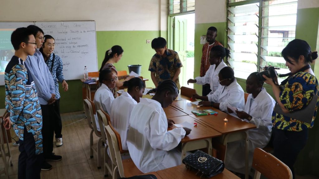
[{"label": "black trousers of the man in the light blue shirt", "polygon": [[44,158],[48,158],[53,152],[53,136],[54,136],[54,109],[53,105],[42,105],[42,137],[43,137],[43,154]]}]

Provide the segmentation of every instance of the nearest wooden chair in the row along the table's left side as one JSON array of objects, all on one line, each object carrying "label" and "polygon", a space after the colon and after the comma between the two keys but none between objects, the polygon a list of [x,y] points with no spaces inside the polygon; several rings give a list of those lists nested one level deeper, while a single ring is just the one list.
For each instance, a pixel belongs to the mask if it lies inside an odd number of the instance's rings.
[{"label": "nearest wooden chair in the row along the table's left side", "polygon": [[[117,178],[117,171],[120,177],[130,177],[135,175],[141,175],[141,172],[132,159],[122,160],[121,153],[127,152],[122,150],[121,137],[117,131],[114,130],[111,124],[105,126],[106,137],[109,146],[110,158],[112,163],[115,165],[113,170],[113,179]],[[118,135],[117,135],[118,134]]]}]

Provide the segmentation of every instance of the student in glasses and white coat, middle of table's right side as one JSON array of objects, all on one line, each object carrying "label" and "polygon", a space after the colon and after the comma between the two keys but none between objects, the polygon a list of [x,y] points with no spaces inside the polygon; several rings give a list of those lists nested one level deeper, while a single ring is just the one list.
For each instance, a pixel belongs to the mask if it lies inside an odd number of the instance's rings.
[{"label": "student in glasses and white coat, middle of table's right side", "polygon": [[201,99],[199,105],[211,106],[221,111],[227,111],[227,106],[243,109],[245,107],[244,90],[237,83],[234,70],[224,67],[219,71],[219,86],[213,94],[199,96],[194,94],[193,99]]}]

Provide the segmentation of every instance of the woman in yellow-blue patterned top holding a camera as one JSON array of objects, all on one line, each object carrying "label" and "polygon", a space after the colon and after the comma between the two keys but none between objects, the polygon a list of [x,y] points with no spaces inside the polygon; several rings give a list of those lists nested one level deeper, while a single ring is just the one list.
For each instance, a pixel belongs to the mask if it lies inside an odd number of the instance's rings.
[{"label": "woman in yellow-blue patterned top holding a camera", "polygon": [[[291,75],[281,83],[283,90],[280,90],[279,86],[273,82],[274,80],[278,84],[277,77],[271,79],[263,75],[265,82],[272,86],[282,111],[289,113],[304,109],[313,95],[318,95],[318,81],[309,65],[318,57],[318,54],[311,52],[308,43],[300,39],[289,42],[281,54],[291,72]],[[318,101],[310,124],[275,111],[272,114],[274,155],[291,169],[293,178],[293,165],[300,150],[306,145],[308,128],[314,125],[317,107]]]}]

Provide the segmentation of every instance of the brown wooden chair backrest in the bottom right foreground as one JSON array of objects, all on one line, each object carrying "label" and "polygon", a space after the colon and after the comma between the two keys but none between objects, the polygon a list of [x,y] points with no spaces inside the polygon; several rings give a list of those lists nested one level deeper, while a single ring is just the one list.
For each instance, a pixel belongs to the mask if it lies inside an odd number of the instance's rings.
[{"label": "brown wooden chair backrest in the bottom right foreground", "polygon": [[260,148],[256,148],[254,151],[252,167],[256,169],[254,179],[259,179],[260,174],[263,174],[268,179],[293,178],[293,174],[286,164]]}]

